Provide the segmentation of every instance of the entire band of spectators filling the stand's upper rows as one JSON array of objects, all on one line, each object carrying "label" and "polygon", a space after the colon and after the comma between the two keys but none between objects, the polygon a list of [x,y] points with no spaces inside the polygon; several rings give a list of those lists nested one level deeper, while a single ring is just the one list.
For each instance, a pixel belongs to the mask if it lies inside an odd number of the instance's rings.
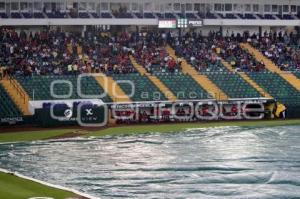
[{"label": "entire band of spectators filling the stand's upper rows", "polygon": [[[0,29],[0,78],[6,75],[62,75],[80,73],[124,74],[136,72],[129,55],[150,73],[178,72],[182,58],[201,72],[224,71],[221,59],[237,71],[264,71],[264,63],[241,48],[248,41],[274,61],[281,70],[300,70],[299,39],[295,34],[263,33],[257,35],[210,32],[168,32],[111,35],[107,32],[86,31],[78,35],[59,30],[17,32]],[[168,55],[171,44],[178,59]]]}]

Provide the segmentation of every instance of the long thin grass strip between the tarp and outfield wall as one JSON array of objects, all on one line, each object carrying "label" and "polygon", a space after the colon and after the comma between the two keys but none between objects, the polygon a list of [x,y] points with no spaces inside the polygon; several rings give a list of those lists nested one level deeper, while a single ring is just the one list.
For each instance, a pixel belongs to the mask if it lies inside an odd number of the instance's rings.
[{"label": "long thin grass strip between the tarp and outfield wall", "polygon": [[[244,127],[270,127],[270,126],[287,126],[300,125],[300,119],[297,120],[269,120],[269,121],[230,121],[230,122],[202,122],[202,123],[178,123],[178,124],[147,124],[147,125],[128,125],[116,126],[99,131],[90,131],[81,136],[95,136],[101,137],[106,135],[129,135],[141,134],[149,132],[178,132],[184,131],[187,128],[208,128],[219,126],[244,126]],[[42,130],[32,132],[16,132],[16,133],[0,133],[0,143],[3,142],[18,142],[18,141],[34,141],[44,140],[57,137],[63,137],[70,132],[79,129],[56,129],[56,130]],[[80,136],[80,135],[74,135]]]}]

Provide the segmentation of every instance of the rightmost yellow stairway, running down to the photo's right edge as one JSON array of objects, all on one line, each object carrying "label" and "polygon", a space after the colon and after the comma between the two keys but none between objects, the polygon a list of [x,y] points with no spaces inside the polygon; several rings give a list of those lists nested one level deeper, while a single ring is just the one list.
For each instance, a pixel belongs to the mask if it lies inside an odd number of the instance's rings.
[{"label": "rightmost yellow stairway, running down to the photo's right edge", "polygon": [[294,74],[281,71],[278,66],[275,65],[270,59],[265,57],[260,51],[255,49],[249,43],[241,43],[240,46],[244,49],[247,49],[250,54],[252,54],[255,59],[259,62],[263,62],[266,68],[274,73],[277,73],[283,79],[285,79],[289,84],[291,84],[294,88],[300,91],[300,79],[298,79]]}]

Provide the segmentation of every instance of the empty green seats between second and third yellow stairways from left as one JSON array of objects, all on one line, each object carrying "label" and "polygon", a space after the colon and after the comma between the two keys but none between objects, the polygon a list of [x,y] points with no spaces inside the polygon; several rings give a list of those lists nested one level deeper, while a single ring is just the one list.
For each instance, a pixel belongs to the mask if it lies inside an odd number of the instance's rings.
[{"label": "empty green seats between second and third yellow stairways from left", "polygon": [[[128,83],[119,83],[121,89],[133,101],[160,101],[167,100],[165,95],[148,79],[147,76],[142,76],[139,73],[118,74],[113,75],[115,81],[129,80],[134,84],[134,88]],[[132,93],[133,92],[133,93]]]}]

